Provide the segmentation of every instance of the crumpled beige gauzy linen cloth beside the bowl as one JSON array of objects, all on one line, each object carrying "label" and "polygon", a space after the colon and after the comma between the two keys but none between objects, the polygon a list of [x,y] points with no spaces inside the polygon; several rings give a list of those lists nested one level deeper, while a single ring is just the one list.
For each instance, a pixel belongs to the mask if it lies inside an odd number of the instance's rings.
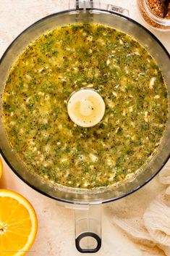
[{"label": "crumpled beige gauzy linen cloth beside the bowl", "polygon": [[150,183],[105,211],[142,256],[170,256],[170,160]]}]

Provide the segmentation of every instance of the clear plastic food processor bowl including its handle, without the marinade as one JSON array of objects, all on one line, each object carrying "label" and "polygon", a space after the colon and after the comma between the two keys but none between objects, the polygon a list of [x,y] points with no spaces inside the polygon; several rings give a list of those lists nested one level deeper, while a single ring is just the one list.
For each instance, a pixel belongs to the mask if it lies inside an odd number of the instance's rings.
[{"label": "clear plastic food processor bowl including its handle, without the marinade", "polygon": [[60,205],[75,210],[75,245],[79,252],[98,252],[101,248],[102,205],[131,194],[148,183],[163,168],[170,154],[170,117],[158,152],[143,166],[143,171],[122,181],[119,186],[106,186],[101,189],[75,189],[48,183],[31,173],[17,157],[9,144],[2,119],[4,87],[9,70],[17,57],[32,41],[63,25],[81,22],[108,25],[135,38],[158,63],[170,95],[169,53],[160,41],[139,23],[128,17],[127,9],[100,1],[69,1],[69,9],[54,13],[35,22],[24,30],[5,51],[0,62],[0,147],[1,154],[9,167],[36,191],[56,199]]}]

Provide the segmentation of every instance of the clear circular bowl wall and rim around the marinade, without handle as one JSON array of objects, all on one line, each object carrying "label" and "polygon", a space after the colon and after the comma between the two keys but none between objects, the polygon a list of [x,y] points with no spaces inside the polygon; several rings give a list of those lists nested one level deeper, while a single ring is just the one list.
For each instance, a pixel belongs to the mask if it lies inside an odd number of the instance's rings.
[{"label": "clear circular bowl wall and rim around the marinade, without handle", "polygon": [[[96,9],[96,3],[100,1],[76,1],[77,9],[71,9],[64,12],[59,12],[54,15],[49,15],[38,22],[35,22],[20,36],[18,36],[12,44],[9,46],[7,51],[4,53],[0,62],[0,82],[1,82],[1,99],[0,99],[0,110],[2,112],[2,96],[4,92],[5,81],[9,73],[10,67],[14,63],[17,56],[20,54],[25,46],[34,41],[35,38],[46,33],[47,30],[51,30],[57,26],[74,24],[79,22],[94,22],[101,23],[103,25],[109,25],[118,30],[122,30],[124,33],[128,33],[134,37],[140,44],[143,44],[150,54],[156,59],[158,65],[161,67],[163,76],[168,84],[168,90],[170,95],[170,77],[169,77],[169,53],[163,47],[160,41],[153,36],[150,31],[144,28],[139,23],[125,17],[124,13],[127,10],[121,9],[120,7],[114,7],[107,5],[107,9]],[[117,9],[116,9],[117,8]],[[120,9],[119,9],[120,8]],[[119,11],[121,14],[112,11]],[[20,160],[17,158],[14,150],[9,145],[7,135],[4,129],[4,123],[2,120],[2,113],[0,118],[1,131],[0,131],[0,146],[1,154],[7,161],[8,165],[14,173],[19,176],[22,181],[25,181],[33,189],[45,194],[48,197],[57,199],[61,202],[69,202],[80,205],[95,205],[103,202],[109,202],[112,200],[119,199],[131,194],[140,187],[148,183],[151,178],[156,176],[159,170],[165,165],[169,159],[170,153],[170,118],[167,124],[166,133],[163,136],[163,140],[160,146],[160,150],[154,155],[152,160],[145,166],[145,170],[139,173],[135,178],[128,182],[122,182],[120,186],[103,187],[101,189],[72,189],[64,186],[54,186],[51,183],[43,181],[38,176],[34,176],[26,170],[25,166],[22,165]]]}]

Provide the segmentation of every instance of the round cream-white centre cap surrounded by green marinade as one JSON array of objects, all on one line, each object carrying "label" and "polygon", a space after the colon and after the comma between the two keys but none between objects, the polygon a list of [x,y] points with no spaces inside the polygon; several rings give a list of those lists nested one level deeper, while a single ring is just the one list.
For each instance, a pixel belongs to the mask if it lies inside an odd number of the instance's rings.
[{"label": "round cream-white centre cap surrounded by green marinade", "polygon": [[105,104],[96,91],[85,88],[72,94],[67,104],[67,111],[74,123],[82,127],[90,127],[103,118]]}]

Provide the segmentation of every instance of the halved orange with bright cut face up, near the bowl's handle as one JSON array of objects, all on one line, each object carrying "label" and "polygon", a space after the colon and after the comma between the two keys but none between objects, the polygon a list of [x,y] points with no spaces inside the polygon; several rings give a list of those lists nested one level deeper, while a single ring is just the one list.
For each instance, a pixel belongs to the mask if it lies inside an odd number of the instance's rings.
[{"label": "halved orange with bright cut face up, near the bowl's handle", "polygon": [[0,189],[0,255],[25,255],[35,240],[37,226],[30,202],[14,191]]}]

